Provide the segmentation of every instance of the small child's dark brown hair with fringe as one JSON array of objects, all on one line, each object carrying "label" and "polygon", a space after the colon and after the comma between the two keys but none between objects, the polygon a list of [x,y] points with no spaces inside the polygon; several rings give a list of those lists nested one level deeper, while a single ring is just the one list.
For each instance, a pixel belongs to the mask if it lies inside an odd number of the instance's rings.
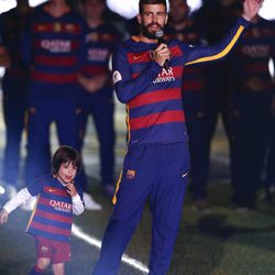
[{"label": "small child's dark brown hair with fringe", "polygon": [[59,146],[54,153],[52,161],[53,174],[57,174],[63,163],[72,163],[74,166],[76,166],[77,172],[79,172],[81,168],[81,160],[79,153],[67,145]]}]

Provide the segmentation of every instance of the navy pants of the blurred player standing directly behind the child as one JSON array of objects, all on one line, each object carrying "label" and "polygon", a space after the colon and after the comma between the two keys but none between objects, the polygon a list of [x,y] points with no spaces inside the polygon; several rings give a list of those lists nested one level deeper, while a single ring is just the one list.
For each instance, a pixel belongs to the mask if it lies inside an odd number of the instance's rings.
[{"label": "navy pants of the blurred player standing directly behind the child", "polygon": [[[46,85],[44,85],[46,86]],[[55,122],[58,142],[79,150],[79,116],[77,88],[33,87],[29,101],[26,185],[51,172],[51,124]],[[31,90],[32,91],[32,90]]]}]

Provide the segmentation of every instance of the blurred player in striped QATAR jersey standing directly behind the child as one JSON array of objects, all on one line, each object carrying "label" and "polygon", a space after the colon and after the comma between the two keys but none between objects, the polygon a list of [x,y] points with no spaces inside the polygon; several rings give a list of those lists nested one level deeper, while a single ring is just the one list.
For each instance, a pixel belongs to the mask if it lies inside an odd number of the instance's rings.
[{"label": "blurred player in striped QATAR jersey standing directly behind the child", "polygon": [[[86,57],[86,28],[85,20],[65,0],[50,0],[35,9],[24,31],[22,53],[31,68],[26,184],[51,169],[53,122],[59,144],[79,151],[81,107],[77,74]],[[101,209],[88,193],[84,200],[88,210]]]}]

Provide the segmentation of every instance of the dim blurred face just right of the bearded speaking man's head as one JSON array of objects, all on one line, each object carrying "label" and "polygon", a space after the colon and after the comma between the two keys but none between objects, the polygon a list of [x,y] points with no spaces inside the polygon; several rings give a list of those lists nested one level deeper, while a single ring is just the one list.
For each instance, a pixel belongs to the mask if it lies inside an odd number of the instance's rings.
[{"label": "dim blurred face just right of the bearded speaking man's head", "polygon": [[169,19],[174,23],[182,23],[188,18],[189,7],[186,0],[170,1]]}]

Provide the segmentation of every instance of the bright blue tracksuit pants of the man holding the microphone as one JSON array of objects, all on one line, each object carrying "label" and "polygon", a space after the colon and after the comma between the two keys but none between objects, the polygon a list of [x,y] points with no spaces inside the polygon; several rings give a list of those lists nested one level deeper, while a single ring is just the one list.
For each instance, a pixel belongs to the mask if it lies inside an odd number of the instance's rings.
[{"label": "bright blue tracksuit pants of the man holding the microphone", "polygon": [[147,198],[152,211],[150,274],[167,272],[182,219],[188,169],[187,143],[139,145],[128,151],[95,275],[117,274]]}]

